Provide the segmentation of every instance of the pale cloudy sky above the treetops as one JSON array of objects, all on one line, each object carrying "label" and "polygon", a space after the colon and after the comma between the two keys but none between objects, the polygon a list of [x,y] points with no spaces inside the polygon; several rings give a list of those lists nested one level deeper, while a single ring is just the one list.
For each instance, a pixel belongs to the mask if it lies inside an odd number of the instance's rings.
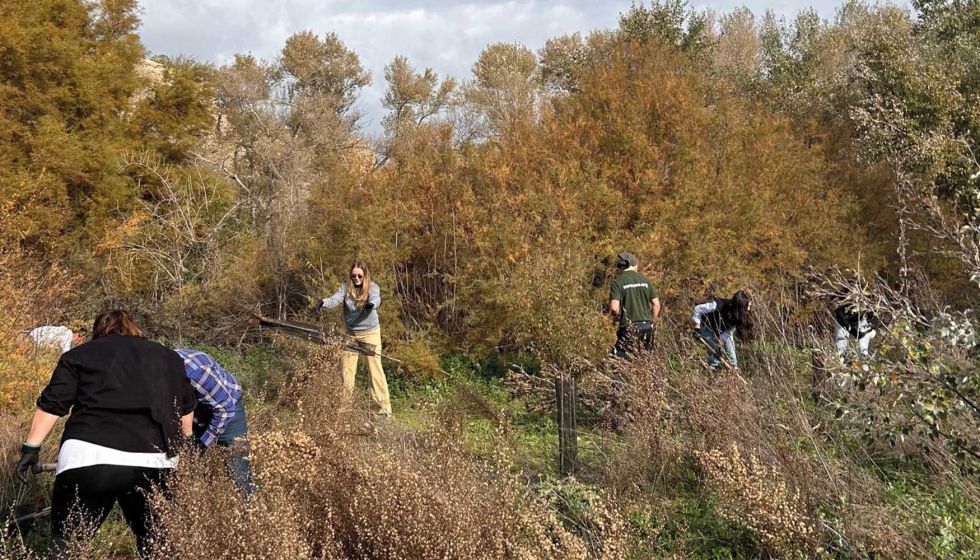
[{"label": "pale cloudy sky above the treetops", "polygon": [[[739,0],[693,0],[695,8],[729,11]],[[648,2],[646,2],[649,5]],[[837,0],[748,0],[792,17],[806,7],[833,18]],[[630,0],[142,0],[143,42],[153,54],[189,55],[222,64],[235,53],[273,59],[297,31],[333,31],[371,71],[361,108],[377,131],[384,112],[386,64],[407,56],[419,69],[469,76],[489,43],[519,42],[534,50],[549,37],[614,27]]]}]

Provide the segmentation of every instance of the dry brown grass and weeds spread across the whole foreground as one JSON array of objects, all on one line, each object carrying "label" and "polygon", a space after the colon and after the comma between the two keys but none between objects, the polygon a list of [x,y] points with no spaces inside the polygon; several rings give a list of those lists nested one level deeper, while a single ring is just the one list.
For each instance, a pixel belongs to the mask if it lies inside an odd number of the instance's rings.
[{"label": "dry brown grass and weeds spread across the whole foreground", "polygon": [[[631,364],[574,363],[595,438],[580,479],[529,463],[521,427],[472,389],[411,426],[378,421],[366,398],[344,395],[339,348],[297,347],[296,367],[252,395],[265,403],[250,414],[258,491],[241,499],[219,452],[185,455],[155,496],[154,558],[687,558],[705,539],[736,557],[929,556],[930,529],[916,525],[929,519],[889,505],[878,468],[911,448],[848,435],[832,408],[810,400],[805,353],[764,329],[769,338],[740,347],[744,381],[708,373],[701,349],[669,329],[657,353]],[[522,379],[525,389],[535,383]],[[542,410],[553,399],[543,389],[524,397],[532,394]],[[476,455],[465,445],[473,414],[494,434]],[[2,443],[12,465],[26,425],[9,420]],[[975,484],[951,465],[935,456],[925,468],[976,501]],[[30,492],[19,499],[43,503]],[[685,505],[692,500],[701,518]],[[114,538],[80,557],[103,557]]]}]

